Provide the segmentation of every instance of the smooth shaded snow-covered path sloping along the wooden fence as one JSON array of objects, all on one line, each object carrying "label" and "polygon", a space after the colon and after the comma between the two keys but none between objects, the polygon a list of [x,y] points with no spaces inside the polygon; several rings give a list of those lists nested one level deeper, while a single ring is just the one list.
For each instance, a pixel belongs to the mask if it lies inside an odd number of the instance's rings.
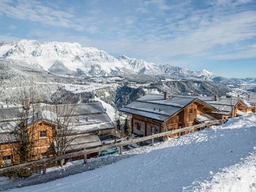
[{"label": "smooth shaded snow-covered path sloping along the wooden fence", "polygon": [[[224,126],[170,139],[148,153],[100,169],[12,191],[203,191],[206,185],[217,185],[212,180],[214,174],[254,156],[255,147],[256,115],[245,115]],[[226,177],[218,178],[221,183]],[[250,189],[256,191],[256,179],[249,182]]]}]

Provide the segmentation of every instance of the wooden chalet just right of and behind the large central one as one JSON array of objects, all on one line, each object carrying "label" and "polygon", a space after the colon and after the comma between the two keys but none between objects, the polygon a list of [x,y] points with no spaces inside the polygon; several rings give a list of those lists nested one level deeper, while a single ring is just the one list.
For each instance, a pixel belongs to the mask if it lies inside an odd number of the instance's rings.
[{"label": "wooden chalet just right of and behind the large central one", "polygon": [[200,96],[199,99],[219,110],[209,113],[209,115],[217,119],[234,118],[252,112],[252,105],[240,97]]}]

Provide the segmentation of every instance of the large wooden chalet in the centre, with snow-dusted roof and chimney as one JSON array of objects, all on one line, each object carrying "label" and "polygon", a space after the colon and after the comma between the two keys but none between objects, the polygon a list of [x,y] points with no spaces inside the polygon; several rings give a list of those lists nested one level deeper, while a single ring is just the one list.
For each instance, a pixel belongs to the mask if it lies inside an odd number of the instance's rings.
[{"label": "large wooden chalet in the centre, with snow-dusted roof and chimney", "polygon": [[132,133],[141,137],[216,120],[208,114],[219,112],[203,100],[167,93],[146,94],[120,111],[131,115]]}]

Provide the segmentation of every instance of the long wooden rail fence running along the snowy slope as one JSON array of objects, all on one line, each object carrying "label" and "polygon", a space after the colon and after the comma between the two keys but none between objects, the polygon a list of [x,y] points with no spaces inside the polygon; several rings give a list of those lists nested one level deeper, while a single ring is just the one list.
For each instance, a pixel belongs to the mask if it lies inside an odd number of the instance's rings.
[{"label": "long wooden rail fence running along the snowy slope", "polygon": [[121,142],[115,142],[112,144],[108,144],[108,145],[102,145],[100,147],[94,147],[94,148],[90,148],[90,149],[86,149],[86,148],[81,148],[78,151],[72,152],[72,153],[67,153],[65,155],[60,155],[60,156],[54,156],[54,157],[50,157],[50,158],[42,158],[40,160],[37,161],[31,161],[25,164],[18,164],[18,165],[13,165],[13,166],[6,166],[0,169],[0,174],[6,173],[6,172],[12,172],[15,171],[17,169],[21,169],[21,168],[25,168],[25,167],[29,167],[29,166],[34,166],[34,165],[42,165],[43,167],[43,173],[46,172],[46,164],[50,163],[50,162],[54,162],[54,161],[61,161],[62,159],[69,159],[69,158],[75,158],[78,156],[83,156],[84,157],[84,163],[87,162],[87,154],[89,153],[99,153],[102,150],[108,150],[111,149],[113,147],[120,147],[120,153],[123,152],[123,146],[125,145],[131,145],[134,143],[138,143],[138,142],[143,142],[146,140],[150,140],[152,141],[152,145],[154,145],[154,138],[159,138],[159,137],[167,137],[171,134],[178,134],[178,136],[181,135],[182,132],[184,131],[195,131],[196,129],[200,129],[200,128],[209,128],[210,126],[214,126],[214,125],[220,125],[222,123],[225,123],[227,120],[214,120],[208,123],[200,123],[197,124],[195,126],[189,126],[186,128],[178,128],[172,131],[166,131],[166,132],[162,132],[159,134],[152,134],[146,137],[140,137],[140,138],[135,138],[135,139],[129,139],[129,140],[123,140]]}]

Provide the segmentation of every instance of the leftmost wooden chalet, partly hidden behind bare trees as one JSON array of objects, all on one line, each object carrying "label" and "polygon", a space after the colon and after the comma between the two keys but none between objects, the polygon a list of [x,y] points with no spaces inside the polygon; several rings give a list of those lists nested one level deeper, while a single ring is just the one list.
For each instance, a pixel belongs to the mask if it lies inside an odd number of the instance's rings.
[{"label": "leftmost wooden chalet, partly hidden behind bare trees", "polygon": [[[100,136],[114,133],[113,123],[101,103],[71,104],[70,106],[74,111],[72,124],[69,125],[72,131],[67,137],[73,139],[65,149],[65,153],[98,147],[102,145]],[[58,107],[61,109],[64,105],[59,104]],[[33,140],[32,160],[53,156],[56,150],[54,138],[59,136],[56,122],[53,120],[53,115],[56,115],[53,112],[53,106],[39,105],[37,109],[34,115],[29,115],[27,128],[27,137]],[[26,112],[31,113],[31,110],[28,109]],[[15,137],[13,131],[19,128],[18,113],[22,111],[21,107],[0,109],[0,165],[2,166],[18,162],[14,149],[18,148],[21,139]]]}]

